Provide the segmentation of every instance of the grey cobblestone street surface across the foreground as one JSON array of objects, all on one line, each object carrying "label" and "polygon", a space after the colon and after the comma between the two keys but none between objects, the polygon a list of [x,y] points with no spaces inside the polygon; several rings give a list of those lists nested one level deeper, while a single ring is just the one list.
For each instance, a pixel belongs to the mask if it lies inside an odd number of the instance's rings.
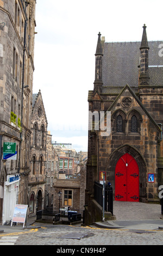
[{"label": "grey cobblestone street surface across the foreground", "polygon": [[[97,227],[72,227],[43,225],[35,233],[20,234],[15,245],[162,245],[162,231],[101,229]],[[146,233],[147,232],[147,233]],[[149,233],[148,233],[149,232]]]}]

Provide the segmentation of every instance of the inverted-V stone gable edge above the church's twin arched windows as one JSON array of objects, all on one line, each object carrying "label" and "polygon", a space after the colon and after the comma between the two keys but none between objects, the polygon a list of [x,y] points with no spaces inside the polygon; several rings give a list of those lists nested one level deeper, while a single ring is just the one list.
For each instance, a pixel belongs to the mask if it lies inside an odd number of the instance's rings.
[{"label": "inverted-V stone gable edge above the church's twin arched windows", "polygon": [[161,132],[161,128],[160,126],[155,122],[155,120],[153,119],[152,115],[149,114],[149,112],[147,111],[147,109],[142,105],[141,101],[139,100],[139,98],[136,96],[136,94],[134,93],[134,91],[131,89],[131,87],[129,87],[128,84],[126,84],[126,86],[124,86],[124,88],[121,90],[121,93],[116,97],[116,99],[114,100],[114,102],[112,102],[111,106],[108,108],[107,111],[111,111],[112,107],[114,107],[118,101],[118,99],[120,99],[121,95],[123,94],[123,92],[128,89],[129,92],[131,93],[131,95],[133,95],[134,99],[137,101],[137,103],[140,105],[140,107],[143,109],[143,111],[146,113],[146,115],[148,116],[148,118],[152,121],[152,123],[155,125],[156,129],[158,129]]}]

